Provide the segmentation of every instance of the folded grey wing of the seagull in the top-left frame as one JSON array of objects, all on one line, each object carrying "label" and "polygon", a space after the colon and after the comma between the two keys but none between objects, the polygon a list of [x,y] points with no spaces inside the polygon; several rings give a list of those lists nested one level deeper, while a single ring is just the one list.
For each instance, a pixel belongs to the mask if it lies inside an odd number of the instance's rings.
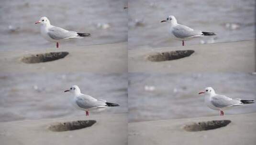
[{"label": "folded grey wing of the seagull in the top-left frame", "polygon": [[60,27],[52,26],[49,28],[47,33],[52,39],[61,40],[61,39],[69,39],[69,38],[77,38],[79,37],[77,32],[75,31],[67,31]]}]

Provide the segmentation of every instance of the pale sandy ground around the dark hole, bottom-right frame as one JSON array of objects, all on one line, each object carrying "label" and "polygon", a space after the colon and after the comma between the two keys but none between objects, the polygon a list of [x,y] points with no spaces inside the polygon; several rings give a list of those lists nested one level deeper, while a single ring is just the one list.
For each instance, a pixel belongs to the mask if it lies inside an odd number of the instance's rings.
[{"label": "pale sandy ground around the dark hole, bottom-right frame", "polygon": [[[198,132],[185,124],[231,120],[227,126]],[[129,123],[129,145],[255,145],[256,113]]]}]

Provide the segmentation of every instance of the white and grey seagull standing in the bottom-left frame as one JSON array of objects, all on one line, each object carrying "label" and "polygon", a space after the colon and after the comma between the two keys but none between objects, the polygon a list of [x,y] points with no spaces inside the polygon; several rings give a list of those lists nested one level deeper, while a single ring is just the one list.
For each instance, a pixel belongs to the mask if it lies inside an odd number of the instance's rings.
[{"label": "white and grey seagull standing in the bottom-left frame", "polygon": [[86,116],[89,116],[90,110],[119,106],[119,104],[109,103],[106,100],[95,99],[92,96],[82,94],[77,85],[71,86],[69,90],[64,92],[70,92],[74,95],[73,105],[77,109],[84,110]]}]

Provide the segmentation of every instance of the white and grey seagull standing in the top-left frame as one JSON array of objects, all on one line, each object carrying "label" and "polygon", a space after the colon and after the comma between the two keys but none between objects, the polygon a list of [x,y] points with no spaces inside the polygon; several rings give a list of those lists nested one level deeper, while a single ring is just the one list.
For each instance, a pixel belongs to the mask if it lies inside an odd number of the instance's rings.
[{"label": "white and grey seagull standing in the top-left frame", "polygon": [[91,36],[89,33],[78,33],[76,31],[68,31],[60,27],[51,25],[46,17],[40,18],[35,24],[41,24],[41,34],[47,41],[56,42],[56,48],[59,47],[59,41],[71,38],[84,38]]}]

